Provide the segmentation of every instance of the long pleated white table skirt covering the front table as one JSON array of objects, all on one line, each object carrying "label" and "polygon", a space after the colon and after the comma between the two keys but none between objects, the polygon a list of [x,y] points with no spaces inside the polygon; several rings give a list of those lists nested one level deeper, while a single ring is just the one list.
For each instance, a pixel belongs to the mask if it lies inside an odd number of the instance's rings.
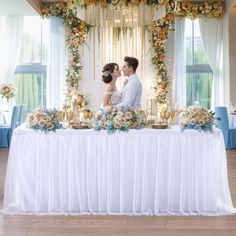
[{"label": "long pleated white table skirt covering the front table", "polygon": [[4,213],[219,215],[234,212],[222,133],[179,128],[15,129]]}]

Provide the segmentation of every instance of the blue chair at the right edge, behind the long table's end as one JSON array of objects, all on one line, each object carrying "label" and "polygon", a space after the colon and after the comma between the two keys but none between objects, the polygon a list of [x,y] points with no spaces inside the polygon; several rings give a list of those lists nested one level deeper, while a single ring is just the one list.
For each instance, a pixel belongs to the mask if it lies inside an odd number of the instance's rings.
[{"label": "blue chair at the right edge, behind the long table's end", "polygon": [[236,148],[236,128],[229,127],[226,107],[215,107],[216,126],[222,130],[226,149]]}]

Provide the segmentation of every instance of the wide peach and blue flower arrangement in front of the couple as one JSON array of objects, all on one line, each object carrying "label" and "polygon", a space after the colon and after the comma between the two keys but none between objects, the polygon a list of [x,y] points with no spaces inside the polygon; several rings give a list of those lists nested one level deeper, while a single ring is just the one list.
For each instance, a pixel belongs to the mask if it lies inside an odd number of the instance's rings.
[{"label": "wide peach and blue flower arrangement in front of the couple", "polygon": [[145,115],[140,110],[132,107],[99,109],[93,119],[94,129],[115,131],[128,131],[129,129],[141,129],[146,125]]}]

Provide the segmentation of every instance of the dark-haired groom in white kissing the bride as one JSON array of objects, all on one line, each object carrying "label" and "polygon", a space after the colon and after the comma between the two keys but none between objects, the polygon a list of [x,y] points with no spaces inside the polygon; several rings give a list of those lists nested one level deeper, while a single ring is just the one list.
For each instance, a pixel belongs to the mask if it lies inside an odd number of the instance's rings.
[{"label": "dark-haired groom in white kissing the bride", "polygon": [[124,76],[128,76],[128,82],[124,86],[122,92],[121,103],[116,106],[131,106],[135,109],[141,108],[141,95],[142,95],[142,84],[138,76],[136,75],[136,69],[138,67],[138,60],[134,57],[125,57],[123,72]]}]

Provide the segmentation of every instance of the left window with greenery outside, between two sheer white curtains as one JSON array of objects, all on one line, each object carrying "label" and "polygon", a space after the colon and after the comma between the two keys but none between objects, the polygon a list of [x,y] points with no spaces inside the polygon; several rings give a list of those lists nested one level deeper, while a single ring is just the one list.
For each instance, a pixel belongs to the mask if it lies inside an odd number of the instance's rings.
[{"label": "left window with greenery outside, between two sheer white curtains", "polygon": [[20,57],[15,71],[16,103],[25,112],[46,106],[46,37],[47,24],[37,16],[24,17]]}]

